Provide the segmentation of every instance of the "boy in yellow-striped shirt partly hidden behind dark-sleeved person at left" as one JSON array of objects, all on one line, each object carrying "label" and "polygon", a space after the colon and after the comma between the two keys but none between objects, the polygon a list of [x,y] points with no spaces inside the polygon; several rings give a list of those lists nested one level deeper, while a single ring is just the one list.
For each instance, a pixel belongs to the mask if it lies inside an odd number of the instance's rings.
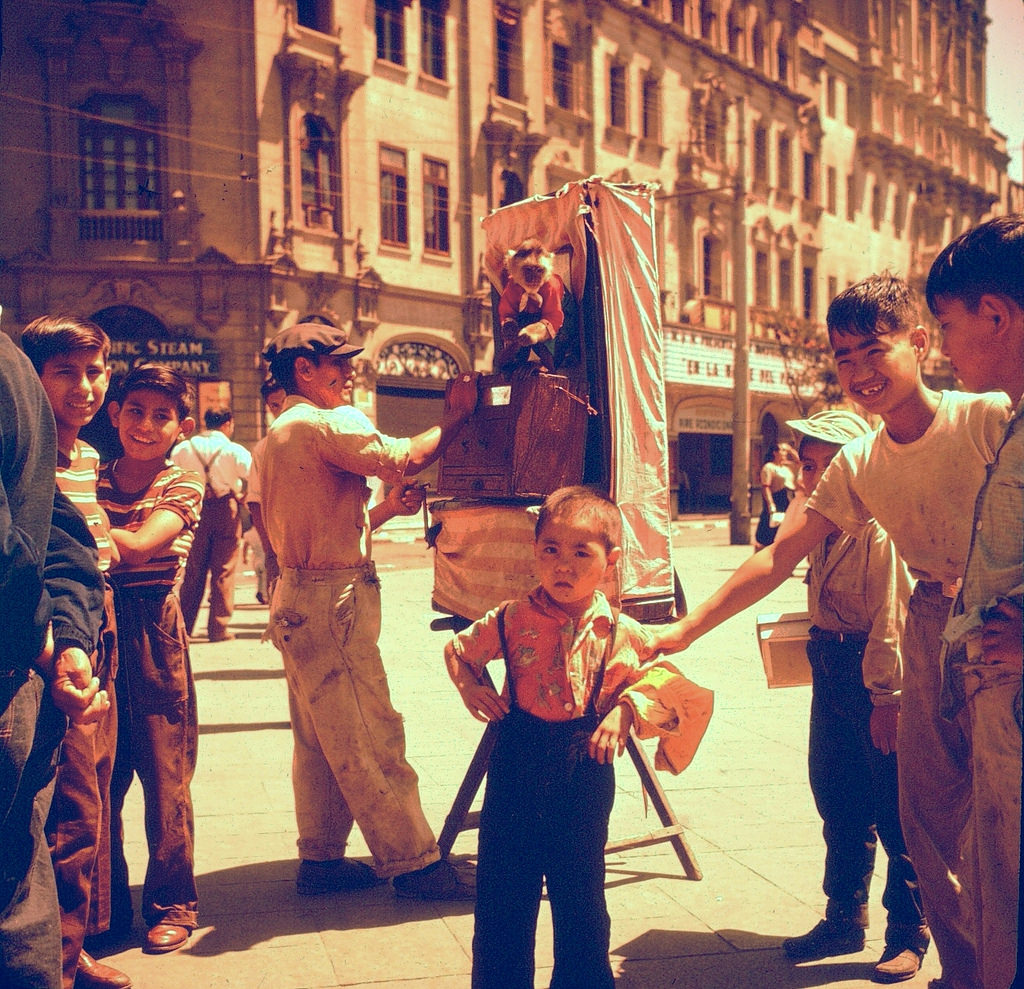
[{"label": "boy in yellow-striped shirt partly hidden behind dark-sleeved person at left", "polygon": [[[85,516],[105,575],[117,554],[110,523],[96,502],[99,455],[79,430],[103,404],[111,370],[106,334],[87,319],[41,316],[22,334],[22,349],[39,375],[53,408],[57,429],[57,487]],[[111,922],[111,772],[117,748],[117,621],[114,591],[108,582],[104,621],[94,671],[111,706],[94,724],[72,722],[65,734],[47,841],[60,905],[63,989],[125,989],[131,980],[84,950],[86,935],[101,934]]]}]

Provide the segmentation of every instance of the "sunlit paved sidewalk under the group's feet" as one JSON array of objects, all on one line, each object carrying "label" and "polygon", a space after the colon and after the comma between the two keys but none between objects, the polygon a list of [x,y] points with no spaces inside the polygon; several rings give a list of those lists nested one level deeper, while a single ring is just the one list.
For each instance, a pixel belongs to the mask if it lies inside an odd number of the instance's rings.
[{"label": "sunlit paved sidewalk under the group's feet", "polygon": [[[673,523],[675,563],[691,604],[702,600],[751,552],[728,546],[721,518]],[[409,757],[420,774],[428,819],[440,830],[479,738],[441,662],[446,633],[430,631],[432,561],[422,529],[386,529],[376,556],[383,579],[382,649],[395,706],[406,717]],[[143,955],[141,930],[111,946],[104,960],[130,974],[136,989],[465,989],[469,985],[471,904],[398,900],[389,886],[357,894],[295,893],[291,735],[276,651],[260,642],[266,608],[251,577],[237,592],[238,639],[193,646],[201,738],[194,783],[200,929],[188,947]],[[823,846],[807,785],[810,688],[768,690],[754,616],[801,610],[805,588],[787,580],[678,657],[680,668],[716,693],[716,709],[693,765],[662,774],[703,872],[683,877],[671,846],[608,857],[612,963],[622,989],[671,986],[812,987],[872,985],[882,952],[880,847],[868,944],[859,954],[794,965],[779,942],[819,919]],[[204,628],[201,616],[197,625]],[[659,826],[645,809],[629,762],[617,765],[612,837]],[[138,785],[125,811],[127,854],[138,912],[145,844]],[[453,857],[471,860],[475,834]],[[351,853],[366,857],[358,831]],[[547,986],[551,926],[541,910],[538,986]],[[939,975],[930,952],[906,983]]]}]

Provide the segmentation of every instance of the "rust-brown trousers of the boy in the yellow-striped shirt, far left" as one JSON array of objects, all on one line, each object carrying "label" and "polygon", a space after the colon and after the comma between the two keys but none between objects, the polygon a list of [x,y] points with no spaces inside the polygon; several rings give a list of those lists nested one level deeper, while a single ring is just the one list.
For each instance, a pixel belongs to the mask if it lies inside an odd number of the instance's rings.
[{"label": "rust-brown trousers of the boy in the yellow-striped shirt, far left", "polygon": [[72,989],[86,935],[111,922],[111,773],[118,738],[117,624],[108,586],[96,675],[111,706],[98,722],[68,726],[46,840],[60,904],[63,987]]}]

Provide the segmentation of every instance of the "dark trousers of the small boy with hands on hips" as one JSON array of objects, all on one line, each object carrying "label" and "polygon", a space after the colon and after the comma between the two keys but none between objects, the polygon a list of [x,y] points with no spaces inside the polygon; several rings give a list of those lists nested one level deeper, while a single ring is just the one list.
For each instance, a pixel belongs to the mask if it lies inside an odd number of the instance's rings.
[{"label": "dark trousers of the small boy with hands on hips", "polygon": [[609,989],[604,846],[614,771],[587,755],[596,718],[545,722],[513,708],[497,726],[480,812],[473,989],[532,989],[546,879],[552,989]]}]

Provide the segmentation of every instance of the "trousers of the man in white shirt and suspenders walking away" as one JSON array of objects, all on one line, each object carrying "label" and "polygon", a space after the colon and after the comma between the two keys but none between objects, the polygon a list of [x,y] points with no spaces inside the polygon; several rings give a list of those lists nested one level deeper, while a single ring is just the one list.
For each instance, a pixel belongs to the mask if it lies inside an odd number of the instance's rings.
[{"label": "trousers of the man in white shirt and suspenders walking away", "polygon": [[189,636],[203,604],[207,575],[210,577],[207,634],[211,639],[217,639],[227,632],[234,610],[234,572],[241,541],[242,517],[238,499],[231,494],[206,499],[181,580],[181,613]]}]

